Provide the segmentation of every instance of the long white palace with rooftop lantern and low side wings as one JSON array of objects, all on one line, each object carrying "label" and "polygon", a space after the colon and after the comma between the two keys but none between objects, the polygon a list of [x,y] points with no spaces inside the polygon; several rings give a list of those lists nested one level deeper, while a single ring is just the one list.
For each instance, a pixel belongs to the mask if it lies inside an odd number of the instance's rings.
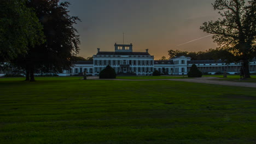
[{"label": "long white palace with rooftop lantern and low side wings", "polygon": [[[226,64],[221,60],[191,61],[190,57],[185,56],[174,57],[168,61],[156,61],[148,49],[144,52],[133,52],[132,46],[132,44],[115,44],[114,51],[97,49],[96,55],[93,56],[94,61],[76,62],[70,70],[64,70],[58,75],[72,76],[86,71],[87,75],[97,76],[107,65],[114,68],[117,74],[152,75],[153,71],[158,70],[168,75],[187,75],[192,64],[196,64],[203,73],[215,74],[224,71],[229,74],[240,73],[241,63]],[[15,67],[0,68],[0,76],[14,71]],[[249,63],[249,71],[256,73],[256,58]]]}]

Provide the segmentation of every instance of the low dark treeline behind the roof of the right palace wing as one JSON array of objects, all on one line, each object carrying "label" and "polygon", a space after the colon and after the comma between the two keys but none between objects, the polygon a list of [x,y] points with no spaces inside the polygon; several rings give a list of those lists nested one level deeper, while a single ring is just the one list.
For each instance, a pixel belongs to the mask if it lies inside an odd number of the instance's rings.
[{"label": "low dark treeline behind the roof of the right palace wing", "polygon": [[169,50],[168,55],[170,58],[177,56],[191,57],[191,60],[218,60],[218,59],[230,59],[232,53],[223,49],[209,49],[206,51],[199,52],[188,52],[181,50]]}]

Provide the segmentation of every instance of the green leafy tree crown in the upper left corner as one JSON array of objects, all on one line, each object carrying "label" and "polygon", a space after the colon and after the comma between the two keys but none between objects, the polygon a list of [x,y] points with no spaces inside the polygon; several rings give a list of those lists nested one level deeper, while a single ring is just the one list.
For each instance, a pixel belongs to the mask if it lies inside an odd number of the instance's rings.
[{"label": "green leafy tree crown in the upper left corner", "polygon": [[43,26],[26,0],[0,1],[0,62],[25,55],[44,42]]}]

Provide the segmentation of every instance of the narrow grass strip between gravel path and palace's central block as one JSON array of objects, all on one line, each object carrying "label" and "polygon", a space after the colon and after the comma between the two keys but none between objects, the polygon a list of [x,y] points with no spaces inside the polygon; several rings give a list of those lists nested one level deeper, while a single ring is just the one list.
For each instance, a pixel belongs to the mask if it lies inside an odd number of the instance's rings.
[{"label": "narrow grass strip between gravel path and palace's central block", "polygon": [[127,80],[154,80],[154,79],[189,79],[187,75],[185,76],[117,76],[117,79],[127,79]]}]

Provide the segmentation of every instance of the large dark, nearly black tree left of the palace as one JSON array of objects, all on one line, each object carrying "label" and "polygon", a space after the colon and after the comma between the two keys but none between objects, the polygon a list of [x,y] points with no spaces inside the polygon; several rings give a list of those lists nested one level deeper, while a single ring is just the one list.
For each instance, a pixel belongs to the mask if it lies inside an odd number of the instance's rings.
[{"label": "large dark, nearly black tree left of the palace", "polygon": [[80,44],[77,29],[73,27],[78,17],[68,15],[68,2],[59,0],[30,0],[28,7],[33,8],[43,25],[46,42],[30,46],[26,56],[19,56],[14,63],[26,69],[26,80],[34,81],[34,72],[61,73],[70,69]]}]

